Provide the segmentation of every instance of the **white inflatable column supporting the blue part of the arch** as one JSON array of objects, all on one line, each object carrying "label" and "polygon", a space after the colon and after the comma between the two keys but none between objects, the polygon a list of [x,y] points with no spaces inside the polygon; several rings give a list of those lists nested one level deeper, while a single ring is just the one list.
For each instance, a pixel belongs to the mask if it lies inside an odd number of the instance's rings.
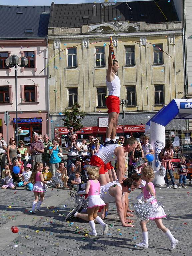
[{"label": "white inflatable column supporting the blue part of the arch", "polygon": [[153,184],[156,186],[163,186],[165,184],[164,177],[160,177],[159,175],[157,175],[156,172],[159,170],[161,166],[161,162],[159,161],[158,155],[165,145],[165,127],[163,125],[151,122],[150,134],[150,144],[152,144],[155,152],[154,160],[152,162],[152,167],[155,172]]}]

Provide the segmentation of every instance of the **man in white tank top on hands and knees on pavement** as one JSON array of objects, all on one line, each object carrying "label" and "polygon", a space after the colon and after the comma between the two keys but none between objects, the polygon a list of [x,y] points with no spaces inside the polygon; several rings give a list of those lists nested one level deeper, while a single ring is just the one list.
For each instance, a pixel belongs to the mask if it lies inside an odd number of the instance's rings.
[{"label": "man in white tank top on hands and knees on pavement", "polygon": [[[124,216],[125,205],[122,204],[122,195],[125,192],[130,193],[131,191],[134,190],[135,187],[136,187],[136,183],[131,178],[124,180],[122,184],[110,182],[100,187],[101,199],[105,203],[110,203],[110,202],[116,203],[117,213],[124,227],[134,227],[134,225],[128,224],[131,220],[128,220],[128,219],[125,220],[125,216]],[[78,194],[85,194],[85,192],[80,191],[78,192]],[[100,209],[98,212],[98,215],[102,219],[104,219],[105,217],[104,210]],[[69,221],[73,216],[75,218],[81,218],[83,220],[88,221],[88,215],[85,213],[77,212],[75,208],[67,215],[67,217],[65,218],[65,221]]]}]

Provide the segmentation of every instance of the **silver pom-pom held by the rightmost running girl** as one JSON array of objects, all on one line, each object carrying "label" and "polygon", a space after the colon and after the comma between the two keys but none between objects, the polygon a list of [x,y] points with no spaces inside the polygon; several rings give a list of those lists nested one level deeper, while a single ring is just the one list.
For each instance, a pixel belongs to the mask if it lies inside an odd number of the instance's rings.
[{"label": "silver pom-pom held by the rightmost running girl", "polygon": [[156,204],[155,207],[149,202],[143,204],[134,204],[135,213],[141,220],[149,220],[150,216],[153,216],[159,209],[160,204]]}]

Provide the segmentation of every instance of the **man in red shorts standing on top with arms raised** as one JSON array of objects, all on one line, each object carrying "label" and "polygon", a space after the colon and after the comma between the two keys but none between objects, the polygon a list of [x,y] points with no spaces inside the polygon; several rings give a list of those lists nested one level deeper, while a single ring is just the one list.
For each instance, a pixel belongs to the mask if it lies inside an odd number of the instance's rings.
[{"label": "man in red shorts standing on top with arms raised", "polygon": [[[109,96],[106,100],[106,105],[108,108],[109,113],[109,123],[106,130],[106,140],[105,145],[113,144],[115,140],[115,134],[117,130],[117,123],[119,118],[120,112],[120,89],[121,84],[119,77],[115,74],[119,69],[119,64],[117,60],[112,59],[113,46],[109,45],[109,57],[108,57],[108,69],[107,69],[107,76],[106,76],[106,84],[107,89],[109,91]],[[110,140],[111,136],[111,140]]]}]

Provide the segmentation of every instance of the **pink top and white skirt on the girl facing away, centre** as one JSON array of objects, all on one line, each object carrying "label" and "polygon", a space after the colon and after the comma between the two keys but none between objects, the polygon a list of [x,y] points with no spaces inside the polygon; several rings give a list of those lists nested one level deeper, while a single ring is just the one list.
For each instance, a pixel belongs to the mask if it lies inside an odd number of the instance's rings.
[{"label": "pink top and white skirt on the girl facing away, centre", "polygon": [[94,180],[90,180],[90,188],[88,192],[88,206],[87,208],[93,208],[96,206],[104,206],[105,203],[100,197],[100,183],[99,181],[94,182]]}]

